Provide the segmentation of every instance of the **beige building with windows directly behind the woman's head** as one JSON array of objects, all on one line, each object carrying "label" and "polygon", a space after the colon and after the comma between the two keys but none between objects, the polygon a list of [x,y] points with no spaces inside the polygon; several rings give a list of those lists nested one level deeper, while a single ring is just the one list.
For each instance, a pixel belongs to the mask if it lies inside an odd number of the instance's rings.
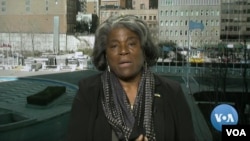
[{"label": "beige building with windows directly behind the woman's head", "polygon": [[[136,15],[147,22],[151,35],[158,41],[158,9],[152,0],[101,0],[99,21],[102,23],[113,15]],[[150,5],[150,4],[154,5]],[[154,7],[154,9],[152,8]]]}]

